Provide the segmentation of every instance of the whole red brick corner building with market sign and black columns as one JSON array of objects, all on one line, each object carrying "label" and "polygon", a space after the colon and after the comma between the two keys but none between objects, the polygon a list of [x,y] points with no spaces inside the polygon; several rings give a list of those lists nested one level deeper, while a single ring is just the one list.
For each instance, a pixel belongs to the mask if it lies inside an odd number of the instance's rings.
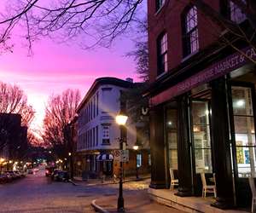
[{"label": "whole red brick corner building with market sign and black columns", "polygon": [[[232,1],[203,2],[250,32]],[[213,206],[249,206],[248,177],[256,176],[254,49],[186,0],[148,0],[148,41],[151,196],[170,187],[171,168],[176,196],[201,196],[201,174],[214,174]]]}]

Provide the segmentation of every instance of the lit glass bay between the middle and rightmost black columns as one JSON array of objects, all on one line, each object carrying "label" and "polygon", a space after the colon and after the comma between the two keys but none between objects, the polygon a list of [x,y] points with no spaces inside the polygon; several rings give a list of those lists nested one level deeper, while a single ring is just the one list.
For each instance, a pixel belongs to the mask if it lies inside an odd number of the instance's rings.
[{"label": "lit glass bay between the middle and rightmost black columns", "polygon": [[201,196],[201,173],[207,181],[213,177],[210,95],[208,99],[204,97],[190,101],[190,132],[193,190],[195,195]]}]

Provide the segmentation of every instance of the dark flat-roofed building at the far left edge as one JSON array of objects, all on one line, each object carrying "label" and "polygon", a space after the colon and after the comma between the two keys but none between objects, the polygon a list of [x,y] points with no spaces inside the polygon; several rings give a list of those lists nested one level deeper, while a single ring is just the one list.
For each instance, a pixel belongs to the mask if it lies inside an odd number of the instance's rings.
[{"label": "dark flat-roofed building at the far left edge", "polygon": [[0,113],[0,157],[19,160],[26,157],[27,127],[21,126],[21,115]]}]

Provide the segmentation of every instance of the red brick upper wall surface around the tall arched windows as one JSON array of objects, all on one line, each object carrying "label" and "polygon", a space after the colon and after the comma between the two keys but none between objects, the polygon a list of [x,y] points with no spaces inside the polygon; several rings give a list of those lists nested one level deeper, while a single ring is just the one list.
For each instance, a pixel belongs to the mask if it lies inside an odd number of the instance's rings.
[{"label": "red brick upper wall surface around the tall arched windows", "polygon": [[[205,0],[213,9],[219,10],[218,0]],[[183,60],[181,14],[189,6],[189,0],[166,0],[158,12],[155,11],[155,1],[148,0],[148,49],[149,78],[154,82],[157,77],[157,46],[156,40],[160,33],[167,32],[168,40],[168,70],[178,66]],[[220,32],[218,26],[205,17],[198,9],[199,47],[205,49],[216,40]]]}]

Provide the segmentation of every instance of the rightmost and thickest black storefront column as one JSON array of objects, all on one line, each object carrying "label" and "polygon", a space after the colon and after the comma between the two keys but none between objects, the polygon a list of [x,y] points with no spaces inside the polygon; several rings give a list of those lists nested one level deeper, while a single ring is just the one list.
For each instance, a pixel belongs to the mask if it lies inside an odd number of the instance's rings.
[{"label": "rightmost and thickest black storefront column", "polygon": [[226,81],[218,78],[212,85],[212,157],[214,162],[217,199],[212,206],[228,209],[234,205],[230,156],[230,132]]}]

